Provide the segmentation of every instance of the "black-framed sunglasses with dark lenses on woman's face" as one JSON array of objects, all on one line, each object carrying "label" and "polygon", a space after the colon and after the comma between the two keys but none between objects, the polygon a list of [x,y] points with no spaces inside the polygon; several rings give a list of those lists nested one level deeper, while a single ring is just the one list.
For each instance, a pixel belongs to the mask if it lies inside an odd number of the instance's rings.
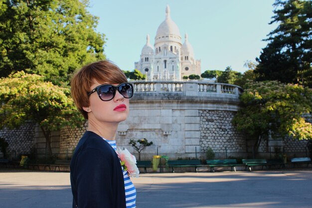
[{"label": "black-framed sunglasses with dark lenses on woman's face", "polygon": [[118,86],[104,84],[99,85],[98,87],[94,88],[90,93],[88,93],[88,96],[90,96],[92,93],[97,92],[99,98],[102,101],[110,101],[113,100],[113,98],[116,95],[116,90],[124,96],[124,98],[132,98],[133,96],[133,85],[130,83],[122,83]]}]

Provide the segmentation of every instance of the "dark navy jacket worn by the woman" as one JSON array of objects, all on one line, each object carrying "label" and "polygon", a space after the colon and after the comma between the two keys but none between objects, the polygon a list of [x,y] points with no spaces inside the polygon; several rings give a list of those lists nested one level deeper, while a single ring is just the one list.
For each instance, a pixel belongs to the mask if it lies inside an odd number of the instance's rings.
[{"label": "dark navy jacket worn by the woman", "polygon": [[70,163],[73,208],[126,208],[124,176],[115,150],[86,131]]}]

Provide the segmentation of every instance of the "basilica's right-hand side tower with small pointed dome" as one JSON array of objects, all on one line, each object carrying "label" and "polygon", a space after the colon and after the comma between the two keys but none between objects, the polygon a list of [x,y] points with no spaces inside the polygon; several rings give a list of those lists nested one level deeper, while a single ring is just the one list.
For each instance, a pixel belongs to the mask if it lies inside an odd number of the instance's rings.
[{"label": "basilica's right-hand side tower with small pointed dome", "polygon": [[181,47],[181,76],[191,74],[200,75],[200,60],[195,60],[194,50],[188,42],[188,35],[185,33],[185,41]]}]

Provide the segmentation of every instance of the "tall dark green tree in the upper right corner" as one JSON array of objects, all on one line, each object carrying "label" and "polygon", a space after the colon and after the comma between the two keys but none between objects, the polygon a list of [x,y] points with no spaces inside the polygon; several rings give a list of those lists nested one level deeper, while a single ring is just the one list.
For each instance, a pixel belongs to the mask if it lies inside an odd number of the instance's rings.
[{"label": "tall dark green tree in the upper right corner", "polygon": [[312,0],[276,0],[268,45],[257,61],[258,80],[312,87]]}]

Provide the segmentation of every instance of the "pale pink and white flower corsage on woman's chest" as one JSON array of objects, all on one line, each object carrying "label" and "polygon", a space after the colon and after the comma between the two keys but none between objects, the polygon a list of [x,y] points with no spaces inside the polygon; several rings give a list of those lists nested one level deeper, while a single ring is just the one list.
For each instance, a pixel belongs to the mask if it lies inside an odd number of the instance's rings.
[{"label": "pale pink and white flower corsage on woman's chest", "polygon": [[128,171],[129,176],[139,177],[139,169],[137,167],[137,159],[134,155],[132,155],[128,149],[122,150],[118,148],[116,153],[120,159],[120,164],[123,166],[124,171]]}]

